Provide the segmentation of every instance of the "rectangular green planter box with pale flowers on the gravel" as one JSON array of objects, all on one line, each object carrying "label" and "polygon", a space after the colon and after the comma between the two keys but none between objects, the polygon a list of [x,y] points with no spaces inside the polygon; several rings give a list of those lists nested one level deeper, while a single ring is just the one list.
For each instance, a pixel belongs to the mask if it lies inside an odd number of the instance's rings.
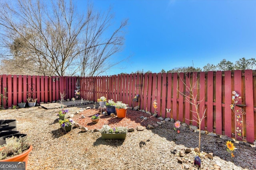
[{"label": "rectangular green planter box with pale flowers on the gravel", "polygon": [[127,132],[127,127],[110,128],[109,125],[103,125],[100,129],[102,139],[125,139]]}]

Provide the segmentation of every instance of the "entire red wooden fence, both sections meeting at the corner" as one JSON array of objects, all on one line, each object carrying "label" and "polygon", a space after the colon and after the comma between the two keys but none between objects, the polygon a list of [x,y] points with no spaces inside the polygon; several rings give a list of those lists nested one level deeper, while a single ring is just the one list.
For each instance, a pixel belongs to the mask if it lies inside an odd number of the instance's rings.
[{"label": "entire red wooden fence, both sections meeting at the corner", "polygon": [[[251,143],[256,139],[256,72],[252,70],[118,74],[82,78],[0,75],[0,93],[7,97],[2,100],[0,98],[0,103],[11,107],[26,102],[31,88],[38,103],[59,100],[60,92],[67,94],[64,99],[71,99],[74,97],[77,80],[80,81],[81,97],[85,100],[96,101],[101,96],[106,96],[115,102],[122,101],[132,107],[140,106],[140,109],[152,113],[152,102],[157,100],[158,116],[197,125],[195,121],[191,121],[196,115],[195,107],[183,95],[188,94],[186,85],[190,82],[196,85],[193,94],[197,95],[197,101],[202,101],[199,104],[200,111],[206,109],[206,118],[201,128],[229,137],[235,133],[235,117],[230,104],[233,102],[232,91],[236,91],[242,97],[238,104],[246,105],[244,136]],[[136,94],[140,95],[139,102],[132,100]]]}]

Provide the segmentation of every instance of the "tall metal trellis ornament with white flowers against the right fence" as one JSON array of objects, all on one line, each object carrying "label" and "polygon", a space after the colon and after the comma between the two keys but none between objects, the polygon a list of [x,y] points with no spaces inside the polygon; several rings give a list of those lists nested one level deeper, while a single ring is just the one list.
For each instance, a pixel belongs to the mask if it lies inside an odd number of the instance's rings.
[{"label": "tall metal trellis ornament with white flowers against the right fence", "polygon": [[[234,103],[230,105],[230,108],[235,113],[235,120],[236,120],[235,138],[236,138],[236,140],[240,139],[240,140],[244,141],[244,118],[243,118],[244,116],[243,115],[245,115],[246,112],[244,112],[244,109],[242,109],[241,107],[244,107],[246,105],[237,104],[241,97],[235,91],[233,91],[232,94],[233,94],[232,100],[234,101]],[[236,109],[236,106],[240,107],[240,108]]]}]

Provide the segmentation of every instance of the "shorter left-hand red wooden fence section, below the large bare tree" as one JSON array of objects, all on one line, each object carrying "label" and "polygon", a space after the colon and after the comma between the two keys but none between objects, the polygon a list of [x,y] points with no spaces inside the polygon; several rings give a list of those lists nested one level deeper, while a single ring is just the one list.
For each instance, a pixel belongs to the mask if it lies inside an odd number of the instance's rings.
[{"label": "shorter left-hand red wooden fence section, below the large bare tree", "polygon": [[37,103],[59,100],[60,92],[66,94],[64,99],[71,99],[74,97],[76,80],[77,77],[66,76],[0,75],[0,89],[3,95],[0,103],[3,102],[3,107],[11,107],[26,102],[31,92],[33,97],[38,99]]}]

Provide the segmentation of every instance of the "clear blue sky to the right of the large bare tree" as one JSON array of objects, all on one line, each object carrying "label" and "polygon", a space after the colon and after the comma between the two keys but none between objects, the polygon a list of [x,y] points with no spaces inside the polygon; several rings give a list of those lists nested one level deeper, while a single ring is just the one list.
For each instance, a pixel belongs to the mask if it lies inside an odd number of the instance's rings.
[{"label": "clear blue sky to the right of the large bare tree", "polygon": [[[202,68],[222,59],[256,58],[256,0],[89,0],[111,6],[114,24],[128,18],[123,51],[126,62],[106,74]],[[86,4],[78,1],[76,5]],[[82,5],[85,6],[85,5]]]}]

